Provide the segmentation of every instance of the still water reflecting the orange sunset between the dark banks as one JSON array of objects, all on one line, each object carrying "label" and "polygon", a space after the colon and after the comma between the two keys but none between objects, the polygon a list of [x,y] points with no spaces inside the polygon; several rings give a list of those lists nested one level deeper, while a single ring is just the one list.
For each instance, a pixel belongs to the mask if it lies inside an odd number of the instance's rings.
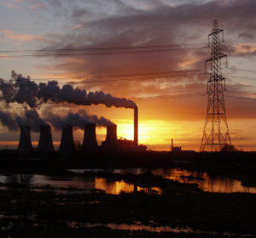
[{"label": "still water reflecting the orange sunset between the dark banks", "polygon": [[[140,175],[143,173],[152,173],[161,178],[171,179],[180,183],[198,184],[201,190],[207,192],[220,192],[220,193],[254,193],[256,194],[256,187],[246,187],[241,184],[241,181],[233,178],[224,178],[221,176],[210,176],[205,172],[191,172],[188,170],[169,168],[169,169],[144,169],[144,168],[126,168],[126,169],[73,169],[71,170],[73,176],[46,176],[34,174],[32,179],[33,185],[47,185],[54,187],[55,190],[76,189],[81,191],[90,192],[90,190],[103,190],[108,194],[118,195],[120,192],[134,192],[141,191],[151,193],[161,193],[158,187],[139,187],[134,184],[128,184],[124,180],[113,180],[108,177],[101,178],[94,173],[109,173],[109,174],[126,174],[131,173]],[[83,176],[84,172],[90,172],[91,176]],[[6,176],[0,175],[0,182],[4,183]]]}]

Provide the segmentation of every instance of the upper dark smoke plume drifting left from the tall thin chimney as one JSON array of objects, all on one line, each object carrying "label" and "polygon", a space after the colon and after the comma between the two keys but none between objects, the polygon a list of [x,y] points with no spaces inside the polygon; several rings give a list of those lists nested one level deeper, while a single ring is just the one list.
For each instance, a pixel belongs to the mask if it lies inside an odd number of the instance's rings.
[{"label": "upper dark smoke plume drifting left from the tall thin chimney", "polygon": [[21,74],[11,73],[9,82],[0,79],[0,97],[6,104],[18,103],[26,104],[32,108],[49,101],[54,103],[67,102],[74,105],[106,105],[107,107],[125,107],[136,108],[135,102],[125,99],[116,98],[111,94],[104,94],[102,91],[89,92],[85,89],[73,88],[70,84],[59,87],[57,81],[47,83],[31,81],[30,77],[23,77]]}]

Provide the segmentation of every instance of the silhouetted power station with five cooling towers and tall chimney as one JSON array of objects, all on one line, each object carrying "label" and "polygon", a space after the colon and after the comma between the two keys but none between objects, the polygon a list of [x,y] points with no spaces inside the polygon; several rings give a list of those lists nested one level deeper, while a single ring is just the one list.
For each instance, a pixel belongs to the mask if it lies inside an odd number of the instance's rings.
[{"label": "silhouetted power station with five cooling towers and tall chimney", "polygon": [[[134,139],[131,140],[120,140],[117,137],[117,125],[111,124],[107,126],[106,139],[102,141],[102,146],[97,144],[96,140],[96,124],[87,123],[84,124],[84,139],[81,150],[84,152],[94,153],[100,148],[106,151],[115,150],[134,150],[138,147],[138,110],[134,108]],[[20,152],[32,152],[32,141],[31,141],[31,128],[20,127],[20,142],[18,150]],[[40,135],[38,140],[38,152],[50,153],[55,151],[52,134],[49,125],[40,126]],[[72,155],[75,151],[75,143],[73,139],[73,126],[70,124],[62,125],[61,131],[61,144],[58,150],[61,154]]]}]

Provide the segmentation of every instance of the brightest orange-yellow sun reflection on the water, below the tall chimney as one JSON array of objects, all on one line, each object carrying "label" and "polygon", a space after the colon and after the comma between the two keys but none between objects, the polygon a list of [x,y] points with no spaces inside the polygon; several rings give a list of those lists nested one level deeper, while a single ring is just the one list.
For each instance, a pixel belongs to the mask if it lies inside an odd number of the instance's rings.
[{"label": "brightest orange-yellow sun reflection on the water, below the tall chimney", "polygon": [[95,188],[116,195],[119,195],[120,192],[131,193],[134,191],[133,184],[127,184],[123,180],[109,182],[107,178],[95,178]]}]

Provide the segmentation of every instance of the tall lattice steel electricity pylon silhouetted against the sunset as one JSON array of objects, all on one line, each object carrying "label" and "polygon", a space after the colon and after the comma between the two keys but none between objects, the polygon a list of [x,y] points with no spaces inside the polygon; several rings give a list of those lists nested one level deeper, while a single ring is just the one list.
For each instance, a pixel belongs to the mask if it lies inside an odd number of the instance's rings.
[{"label": "tall lattice steel electricity pylon silhouetted against the sunset", "polygon": [[219,151],[225,145],[231,145],[230,132],[224,105],[225,78],[221,71],[221,59],[226,54],[221,53],[219,35],[223,30],[218,28],[218,20],[214,20],[212,32],[212,55],[207,62],[211,62],[210,79],[207,82],[207,118],[201,139],[201,151]]}]

